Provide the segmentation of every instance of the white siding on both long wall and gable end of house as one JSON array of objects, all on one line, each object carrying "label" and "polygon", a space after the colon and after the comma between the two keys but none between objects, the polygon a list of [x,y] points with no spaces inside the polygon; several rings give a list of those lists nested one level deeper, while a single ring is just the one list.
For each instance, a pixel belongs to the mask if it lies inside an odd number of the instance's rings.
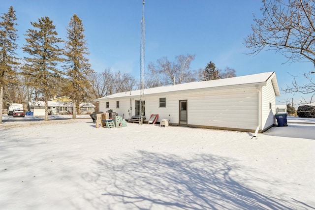
[{"label": "white siding on both long wall and gable end of house", "polygon": [[[203,82],[201,83],[203,84]],[[160,87],[145,91],[146,120],[152,114],[158,114],[158,121],[167,119],[171,124],[179,124],[179,101],[187,100],[188,126],[254,131],[257,125],[260,125],[261,131],[274,123],[276,95],[279,95],[275,77],[269,77],[265,82],[260,81],[259,83],[247,85],[240,84],[189,90],[176,90],[176,87]],[[153,91],[160,89],[169,90],[170,88],[174,91]],[[151,94],[148,93],[150,91],[152,92]],[[138,93],[138,91],[134,91],[134,93]],[[129,96],[124,93],[119,93],[119,95],[114,94],[104,99],[100,98],[99,110],[103,112],[108,110],[103,108],[105,107],[105,101],[115,104],[119,100],[120,109],[115,110],[112,107],[110,109],[118,112],[125,119],[130,119],[130,117],[135,115],[135,101],[139,100],[139,95],[133,94]],[[167,98],[167,106],[163,109],[159,106],[160,98]],[[270,103],[271,109],[269,109]]]}]

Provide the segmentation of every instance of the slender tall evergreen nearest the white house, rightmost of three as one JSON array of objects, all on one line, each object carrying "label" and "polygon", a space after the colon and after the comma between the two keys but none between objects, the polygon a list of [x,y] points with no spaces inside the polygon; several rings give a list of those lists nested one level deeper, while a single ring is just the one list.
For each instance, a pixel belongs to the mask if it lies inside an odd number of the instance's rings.
[{"label": "slender tall evergreen nearest the white house, rightmost of three", "polygon": [[72,118],[76,119],[76,110],[79,112],[80,102],[88,97],[91,82],[88,76],[93,73],[89,59],[87,42],[84,35],[84,27],[81,19],[74,14],[67,28],[67,40],[65,41],[67,75],[66,94],[72,99]]}]

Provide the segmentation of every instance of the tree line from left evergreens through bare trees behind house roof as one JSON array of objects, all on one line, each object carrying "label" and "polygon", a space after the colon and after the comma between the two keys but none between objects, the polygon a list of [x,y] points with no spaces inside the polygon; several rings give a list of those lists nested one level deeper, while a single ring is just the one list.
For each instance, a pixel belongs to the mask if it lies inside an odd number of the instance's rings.
[{"label": "tree line from left evergreens through bare trees behind house roof", "polygon": [[[48,101],[54,97],[68,96],[73,109],[80,102],[93,102],[95,98],[117,92],[137,90],[139,82],[130,73],[109,68],[95,72],[87,56],[89,50],[81,19],[74,14],[66,29],[65,39],[58,36],[49,17],[31,22],[23,46],[17,45],[17,17],[11,6],[0,16],[0,121],[2,110],[10,103],[27,103],[43,100],[45,120],[48,120]],[[25,57],[16,51],[21,47]],[[235,70],[217,69],[210,62],[204,69],[191,70],[195,55],[179,55],[174,61],[166,57],[156,63],[149,62],[145,88],[205,81],[235,76]],[[95,104],[97,106],[97,104]],[[76,112],[73,112],[73,119]]]}]

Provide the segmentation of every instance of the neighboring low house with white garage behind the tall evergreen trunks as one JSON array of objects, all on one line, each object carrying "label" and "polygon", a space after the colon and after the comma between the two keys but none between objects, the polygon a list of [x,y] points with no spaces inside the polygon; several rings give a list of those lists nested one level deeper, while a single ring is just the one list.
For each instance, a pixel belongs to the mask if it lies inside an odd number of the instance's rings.
[{"label": "neighboring low house with white garage behind the tall evergreen trunks", "polygon": [[[28,104],[29,110],[33,112],[34,116],[45,115],[45,102],[33,101]],[[80,103],[80,114],[92,114],[95,111],[95,106],[92,103]],[[72,114],[71,101],[48,101],[49,115],[66,115]]]}]

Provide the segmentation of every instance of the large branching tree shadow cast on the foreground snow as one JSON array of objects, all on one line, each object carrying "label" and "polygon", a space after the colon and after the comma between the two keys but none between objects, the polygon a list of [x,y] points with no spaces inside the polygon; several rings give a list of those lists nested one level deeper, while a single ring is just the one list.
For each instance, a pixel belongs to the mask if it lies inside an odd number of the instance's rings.
[{"label": "large branching tree shadow cast on the foreground snow", "polygon": [[275,198],[236,181],[246,183],[246,178],[237,175],[237,171],[246,169],[235,162],[207,154],[184,159],[147,151],[124,154],[119,159],[99,159],[95,160],[95,170],[83,175],[96,189],[84,197],[93,207],[109,210],[305,208],[301,202]]}]

